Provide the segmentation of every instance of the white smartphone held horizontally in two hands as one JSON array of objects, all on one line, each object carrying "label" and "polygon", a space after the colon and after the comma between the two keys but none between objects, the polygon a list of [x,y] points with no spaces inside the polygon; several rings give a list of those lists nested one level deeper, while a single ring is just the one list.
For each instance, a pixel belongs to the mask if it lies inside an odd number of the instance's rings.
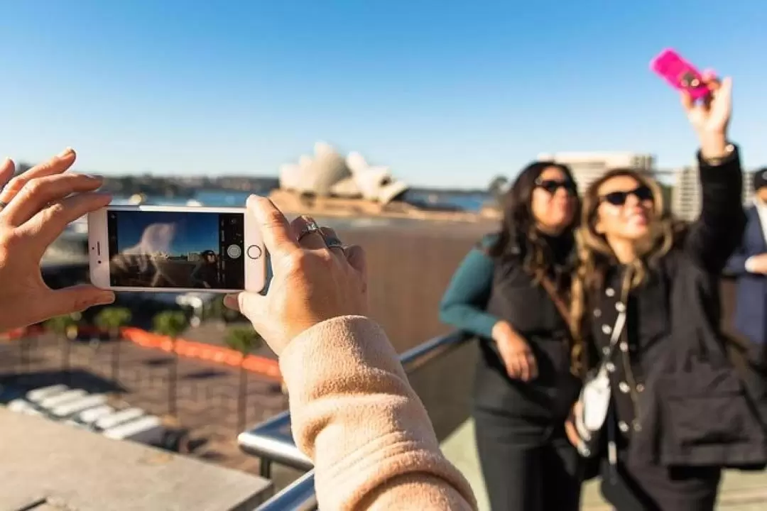
[{"label": "white smartphone held horizontally in two hands", "polygon": [[261,292],[266,254],[245,208],[107,206],[88,215],[91,283],[115,291]]}]

